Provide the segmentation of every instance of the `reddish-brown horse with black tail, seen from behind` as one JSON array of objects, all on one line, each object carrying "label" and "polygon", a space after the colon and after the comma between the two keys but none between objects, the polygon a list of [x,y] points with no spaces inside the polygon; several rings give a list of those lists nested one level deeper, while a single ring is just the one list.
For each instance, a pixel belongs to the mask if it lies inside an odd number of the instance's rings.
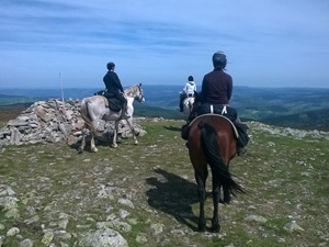
[{"label": "reddish-brown horse with black tail, seen from behind", "polygon": [[[245,192],[234,181],[228,170],[229,161],[237,153],[237,137],[232,123],[223,115],[205,114],[196,117],[191,123],[189,134],[189,154],[194,168],[195,180],[200,200],[198,229],[205,231],[204,203],[206,199],[206,179],[208,176],[207,164],[213,173],[213,202],[214,214],[212,229],[219,232],[218,203],[229,203],[231,195]],[[223,187],[224,199],[220,199]]]}]

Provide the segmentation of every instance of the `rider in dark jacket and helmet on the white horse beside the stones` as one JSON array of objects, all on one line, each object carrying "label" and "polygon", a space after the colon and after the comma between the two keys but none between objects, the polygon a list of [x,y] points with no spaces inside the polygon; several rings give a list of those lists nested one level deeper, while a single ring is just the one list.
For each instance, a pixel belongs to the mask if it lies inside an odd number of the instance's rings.
[{"label": "rider in dark jacket and helmet on the white horse beside the stones", "polygon": [[107,63],[109,71],[103,78],[106,87],[106,94],[110,98],[117,99],[122,103],[122,115],[128,117],[128,115],[126,114],[127,100],[123,96],[124,90],[116,72],[114,72],[114,68],[115,64],[113,61]]}]

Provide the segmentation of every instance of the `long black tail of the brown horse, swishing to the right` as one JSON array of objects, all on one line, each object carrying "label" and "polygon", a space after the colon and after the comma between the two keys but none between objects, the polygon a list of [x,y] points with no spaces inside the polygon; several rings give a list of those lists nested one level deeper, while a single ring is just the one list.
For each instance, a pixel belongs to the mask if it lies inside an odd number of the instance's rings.
[{"label": "long black tail of the brown horse, swishing to the right", "polygon": [[236,197],[237,193],[245,193],[245,190],[231,178],[228,166],[222,159],[219,146],[217,143],[217,132],[207,123],[200,123],[201,144],[206,160],[212,168],[213,176],[218,178],[224,189],[224,203],[229,203],[230,195]]}]

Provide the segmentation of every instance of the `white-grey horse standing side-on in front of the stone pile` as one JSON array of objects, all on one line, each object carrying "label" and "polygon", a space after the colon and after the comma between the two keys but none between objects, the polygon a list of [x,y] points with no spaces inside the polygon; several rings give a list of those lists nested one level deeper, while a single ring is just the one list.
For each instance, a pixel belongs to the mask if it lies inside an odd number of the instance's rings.
[{"label": "white-grey horse standing side-on in front of the stone pile", "polygon": [[138,141],[136,138],[136,133],[134,130],[134,123],[133,123],[133,113],[134,113],[134,106],[133,102],[136,99],[138,102],[143,103],[145,101],[143,96],[143,89],[141,83],[134,85],[133,87],[124,90],[124,97],[127,100],[127,115],[128,119],[123,117],[121,111],[114,112],[110,110],[110,108],[106,108],[105,105],[105,98],[102,96],[93,96],[90,98],[86,98],[81,102],[81,116],[84,120],[84,127],[82,130],[82,142],[81,146],[79,148],[79,151],[83,151],[86,146],[86,128],[90,130],[91,133],[91,141],[90,141],[90,150],[91,151],[98,151],[98,148],[94,145],[94,135],[100,136],[101,134],[98,132],[98,126],[100,124],[100,120],[104,121],[115,121],[115,130],[113,135],[113,142],[112,147],[117,147],[117,131],[118,131],[118,122],[121,120],[126,120],[132,134],[134,138],[134,143],[138,144]]}]

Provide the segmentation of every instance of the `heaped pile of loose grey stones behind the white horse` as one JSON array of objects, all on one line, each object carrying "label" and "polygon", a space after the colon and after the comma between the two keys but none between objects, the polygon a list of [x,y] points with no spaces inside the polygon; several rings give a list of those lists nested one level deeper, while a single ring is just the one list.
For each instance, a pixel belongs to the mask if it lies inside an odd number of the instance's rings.
[{"label": "heaped pile of loose grey stones behind the white horse", "polygon": [[[79,100],[63,102],[50,99],[35,102],[0,130],[0,146],[58,142],[73,145],[81,139],[84,125],[80,106]],[[145,134],[137,124],[134,127],[136,132]],[[101,121],[98,130],[111,136],[114,123]],[[120,133],[123,137],[131,135],[129,127],[123,121],[120,123]]]}]

